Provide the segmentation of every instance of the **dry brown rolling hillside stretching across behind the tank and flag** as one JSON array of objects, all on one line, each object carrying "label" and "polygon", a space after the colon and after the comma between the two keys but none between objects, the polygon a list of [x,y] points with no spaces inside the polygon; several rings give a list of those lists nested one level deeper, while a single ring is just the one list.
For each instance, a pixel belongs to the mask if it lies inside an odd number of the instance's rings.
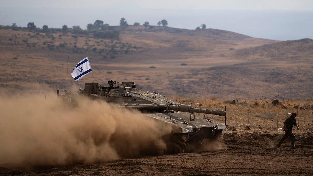
[{"label": "dry brown rolling hillside stretching across behind the tank and flag", "polygon": [[[159,26],[115,30],[119,39],[0,29],[0,90],[55,90],[57,84],[63,90],[68,80],[68,90],[75,91],[79,83],[94,79],[100,84],[135,81],[140,89],[170,96],[313,96],[311,39],[274,41],[218,29]],[[69,73],[86,56],[93,75],[75,82]]]}]

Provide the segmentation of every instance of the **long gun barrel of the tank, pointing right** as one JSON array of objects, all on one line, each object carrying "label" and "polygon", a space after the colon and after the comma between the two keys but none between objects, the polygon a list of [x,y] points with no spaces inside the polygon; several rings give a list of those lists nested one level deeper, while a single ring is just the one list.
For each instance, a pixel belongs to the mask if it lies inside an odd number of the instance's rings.
[{"label": "long gun barrel of the tank, pointing right", "polygon": [[200,109],[200,108],[195,108],[191,105],[168,105],[167,106],[168,110],[174,110],[174,111],[182,111],[182,112],[190,112],[190,113],[203,113],[203,114],[213,114],[213,115],[219,115],[219,116],[226,116],[226,111],[215,111],[215,110],[208,110],[208,109]]}]

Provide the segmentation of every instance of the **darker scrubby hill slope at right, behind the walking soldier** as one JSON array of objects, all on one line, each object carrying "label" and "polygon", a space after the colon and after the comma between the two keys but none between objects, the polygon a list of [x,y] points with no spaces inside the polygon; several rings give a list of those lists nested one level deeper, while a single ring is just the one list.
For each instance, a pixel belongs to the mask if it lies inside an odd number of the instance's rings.
[{"label": "darker scrubby hill slope at right, behind the walking soldier", "polygon": [[[255,91],[265,97],[311,98],[312,49],[312,39],[239,49],[235,56],[247,59],[246,63],[190,70],[177,76],[177,91],[195,95],[203,92],[210,96],[222,94],[229,98],[255,97]],[[210,86],[197,86],[201,84]]]}]

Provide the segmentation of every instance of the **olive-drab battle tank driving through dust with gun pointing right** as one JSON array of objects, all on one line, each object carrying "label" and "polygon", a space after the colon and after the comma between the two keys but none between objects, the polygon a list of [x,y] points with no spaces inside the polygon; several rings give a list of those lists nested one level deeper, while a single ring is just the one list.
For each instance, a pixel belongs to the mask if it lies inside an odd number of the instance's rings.
[{"label": "olive-drab battle tank driving through dust with gun pointing right", "polygon": [[[225,129],[222,122],[209,118],[206,114],[226,116],[226,111],[195,108],[180,104],[156,92],[138,90],[134,82],[108,81],[108,87],[98,83],[85,83],[85,89],[58,95],[67,104],[75,106],[76,97],[88,96],[122,108],[136,108],[144,116],[164,125],[172,126],[172,134],[167,139],[172,153],[184,152],[187,146],[201,145],[204,140],[215,140]],[[197,114],[195,114],[197,113]]]}]

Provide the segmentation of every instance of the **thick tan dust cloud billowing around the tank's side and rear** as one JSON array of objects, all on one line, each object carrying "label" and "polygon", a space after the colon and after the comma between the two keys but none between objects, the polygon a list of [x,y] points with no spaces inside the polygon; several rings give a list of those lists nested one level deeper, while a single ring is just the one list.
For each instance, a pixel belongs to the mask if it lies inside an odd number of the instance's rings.
[{"label": "thick tan dust cloud billowing around the tank's side and rear", "polygon": [[163,154],[171,133],[136,110],[55,93],[0,98],[0,164],[68,165]]}]

